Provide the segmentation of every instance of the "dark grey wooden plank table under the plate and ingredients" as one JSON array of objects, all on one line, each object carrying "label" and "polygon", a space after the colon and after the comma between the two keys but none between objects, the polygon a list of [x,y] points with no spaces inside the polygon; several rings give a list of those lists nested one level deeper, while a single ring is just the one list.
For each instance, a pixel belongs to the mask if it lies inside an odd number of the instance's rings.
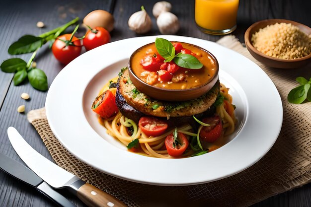
[{"label": "dark grey wooden plank table under the plate and ingredients", "polygon": [[[76,16],[83,17],[95,9],[110,11],[115,18],[115,29],[111,32],[111,41],[137,37],[128,28],[128,18],[144,4],[152,16],[152,7],[157,0],[1,0],[0,2],[0,61],[11,58],[7,53],[9,45],[24,34],[39,35],[58,27]],[[207,35],[199,31],[194,22],[194,0],[170,0],[172,12],[179,18],[181,28],[177,35],[191,36],[210,41],[217,41],[221,36]],[[311,26],[311,2],[306,0],[240,0],[237,29],[233,32],[241,42],[248,26],[267,18],[284,18]],[[160,34],[155,18],[152,17],[152,31],[146,35]],[[45,28],[37,28],[36,23],[43,21]],[[82,35],[83,31],[79,30]],[[18,56],[29,60],[30,54]],[[53,57],[48,46],[40,49],[35,60],[37,68],[43,69],[48,76],[49,85],[63,69]],[[38,152],[52,160],[41,138],[28,123],[25,114],[17,113],[19,105],[26,105],[26,113],[45,105],[47,92],[33,89],[29,83],[14,86],[12,73],[0,71],[0,152],[22,162],[11,147],[6,130],[9,126],[17,128],[26,141]],[[64,85],[66,87],[66,85]],[[21,93],[30,94],[30,100],[20,98]],[[78,207],[85,206],[77,198],[61,190]],[[24,185],[0,171],[0,206],[1,207],[52,207],[53,202],[33,188]],[[253,207],[311,207],[311,184],[292,191],[268,198]]]}]

